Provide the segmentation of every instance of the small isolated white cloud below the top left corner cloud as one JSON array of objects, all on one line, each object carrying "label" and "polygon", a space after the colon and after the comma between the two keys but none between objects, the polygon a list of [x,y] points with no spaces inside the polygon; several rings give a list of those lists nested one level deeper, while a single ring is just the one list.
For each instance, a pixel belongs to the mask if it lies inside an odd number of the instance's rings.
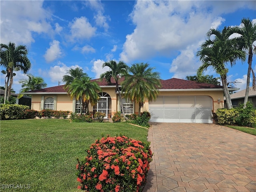
[{"label": "small isolated white cloud below the top left corner cloud", "polygon": [[46,62],[52,62],[62,56],[61,48],[60,48],[60,42],[57,40],[53,40],[53,42],[50,43],[50,48],[48,48],[44,54],[44,58]]}]

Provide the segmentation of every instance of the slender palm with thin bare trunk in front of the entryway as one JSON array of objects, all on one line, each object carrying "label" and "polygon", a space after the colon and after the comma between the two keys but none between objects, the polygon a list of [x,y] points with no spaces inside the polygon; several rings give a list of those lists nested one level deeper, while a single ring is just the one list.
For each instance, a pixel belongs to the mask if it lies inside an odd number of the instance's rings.
[{"label": "slender palm with thin bare trunk in front of the entryway", "polygon": [[119,61],[117,63],[114,60],[105,62],[102,65],[102,68],[104,68],[106,66],[109,67],[110,70],[102,73],[100,75],[100,80],[103,80],[103,78],[105,78],[108,83],[111,83],[111,78],[114,78],[114,80],[116,82],[116,91],[118,91],[118,94],[119,94],[119,101],[120,101],[120,104],[121,104],[121,110],[122,110],[123,116],[125,117],[124,106],[122,104],[121,92],[120,92],[120,88],[118,86],[118,80],[119,80],[119,75],[126,74],[128,66],[123,61]]}]

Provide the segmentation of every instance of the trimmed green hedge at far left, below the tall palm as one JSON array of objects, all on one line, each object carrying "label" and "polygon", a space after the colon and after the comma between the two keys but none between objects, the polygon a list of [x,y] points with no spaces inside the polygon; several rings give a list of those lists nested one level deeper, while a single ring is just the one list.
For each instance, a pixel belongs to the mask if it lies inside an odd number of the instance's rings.
[{"label": "trimmed green hedge at far left, below the tall palm", "polygon": [[24,111],[29,110],[29,106],[18,104],[1,104],[0,105],[0,119],[24,119]]}]

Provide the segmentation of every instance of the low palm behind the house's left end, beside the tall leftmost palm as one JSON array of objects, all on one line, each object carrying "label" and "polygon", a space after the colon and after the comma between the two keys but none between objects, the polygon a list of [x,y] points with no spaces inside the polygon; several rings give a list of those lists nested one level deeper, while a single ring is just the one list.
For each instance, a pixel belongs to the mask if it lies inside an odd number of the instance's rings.
[{"label": "low palm behind the house's left end, beside the tall leftmost palm", "polygon": [[[36,89],[42,89],[47,86],[46,82],[44,82],[44,79],[42,77],[33,76],[32,74],[27,74],[28,79],[22,79],[19,81],[21,83],[21,87],[23,89],[20,90],[20,92],[28,92]],[[19,98],[21,98],[23,95],[20,94]]]}]

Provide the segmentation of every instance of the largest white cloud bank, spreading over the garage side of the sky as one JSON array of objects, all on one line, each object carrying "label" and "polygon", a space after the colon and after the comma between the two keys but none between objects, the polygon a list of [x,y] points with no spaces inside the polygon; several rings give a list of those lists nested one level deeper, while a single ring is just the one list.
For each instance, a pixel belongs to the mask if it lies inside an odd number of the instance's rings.
[{"label": "largest white cloud bank, spreading over the garage side of the sky", "polygon": [[[244,6],[247,5],[243,1],[137,1],[130,14],[136,28],[126,35],[119,60],[175,56],[170,67],[174,77],[195,74],[200,65],[196,51],[206,32],[225,21],[223,13]],[[177,53],[180,54],[176,56]]]}]

